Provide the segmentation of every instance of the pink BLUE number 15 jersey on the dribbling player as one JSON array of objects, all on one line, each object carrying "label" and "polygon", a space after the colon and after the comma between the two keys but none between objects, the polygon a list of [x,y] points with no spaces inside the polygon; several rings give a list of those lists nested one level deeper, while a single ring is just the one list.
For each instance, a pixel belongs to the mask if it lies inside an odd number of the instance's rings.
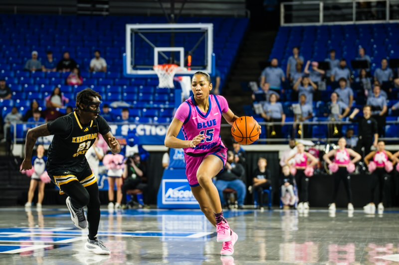
[{"label": "pink BLUE number 15 jersey on the dribbling player", "polygon": [[[183,123],[182,131],[186,140],[203,134],[203,139],[195,148],[185,148],[186,153],[204,154],[215,147],[224,147],[220,139],[220,125],[222,113],[228,111],[228,104],[224,97],[209,95],[209,109],[202,113],[192,96],[183,102],[176,111],[175,118]],[[225,148],[225,147],[224,147]]]}]

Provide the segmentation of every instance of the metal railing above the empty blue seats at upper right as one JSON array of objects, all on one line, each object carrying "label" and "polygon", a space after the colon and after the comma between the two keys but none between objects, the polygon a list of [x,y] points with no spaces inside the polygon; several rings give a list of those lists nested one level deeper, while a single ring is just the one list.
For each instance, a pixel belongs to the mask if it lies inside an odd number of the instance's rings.
[{"label": "metal railing above the empty blue seats at upper right", "polygon": [[280,3],[280,25],[333,25],[399,21],[399,0],[325,0]]}]

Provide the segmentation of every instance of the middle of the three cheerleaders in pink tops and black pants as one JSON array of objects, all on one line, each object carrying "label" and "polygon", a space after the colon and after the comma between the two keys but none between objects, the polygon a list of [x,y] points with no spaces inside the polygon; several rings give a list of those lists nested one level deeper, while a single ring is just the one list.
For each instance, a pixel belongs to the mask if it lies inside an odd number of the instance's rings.
[{"label": "middle of the three cheerleaders in pink tops and black pants", "polygon": [[[351,189],[351,176],[348,172],[348,165],[355,164],[362,156],[355,152],[352,149],[346,148],[346,139],[344,137],[338,140],[338,149],[333,149],[323,155],[323,159],[330,165],[333,161],[330,160],[331,156],[334,156],[334,163],[338,165],[338,170],[333,173],[334,177],[334,192],[333,192],[333,202],[330,204],[328,208],[330,211],[335,211],[335,201],[337,199],[338,190],[340,187],[341,181],[344,182],[344,186],[346,189],[346,195],[348,196],[348,211],[353,211],[353,204],[352,204],[352,189]],[[351,160],[351,156],[353,159]]]}]

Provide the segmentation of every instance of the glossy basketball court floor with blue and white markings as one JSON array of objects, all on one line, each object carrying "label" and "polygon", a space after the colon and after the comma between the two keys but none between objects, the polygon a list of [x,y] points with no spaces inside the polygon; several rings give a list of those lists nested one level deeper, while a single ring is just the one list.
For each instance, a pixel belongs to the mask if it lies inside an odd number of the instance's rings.
[{"label": "glossy basketball court floor with blue and white markings", "polygon": [[66,207],[0,209],[0,264],[396,264],[399,211],[367,216],[311,210],[226,211],[238,234],[220,257],[215,230],[198,210],[102,210],[99,238],[110,256],[84,250]]}]

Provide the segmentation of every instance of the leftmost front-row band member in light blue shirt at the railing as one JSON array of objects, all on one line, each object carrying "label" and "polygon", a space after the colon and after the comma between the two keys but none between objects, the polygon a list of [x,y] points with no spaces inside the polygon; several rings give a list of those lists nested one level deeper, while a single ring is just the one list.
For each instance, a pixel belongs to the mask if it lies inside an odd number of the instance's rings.
[{"label": "leftmost front-row band member in light blue shirt at the railing", "polygon": [[281,127],[285,122],[285,114],[283,112],[283,105],[280,102],[277,102],[276,95],[270,95],[270,101],[263,106],[263,113],[261,116],[267,122],[273,123],[282,123],[281,125],[271,125],[271,129],[267,130],[269,132],[269,137],[273,138],[282,138]]}]

